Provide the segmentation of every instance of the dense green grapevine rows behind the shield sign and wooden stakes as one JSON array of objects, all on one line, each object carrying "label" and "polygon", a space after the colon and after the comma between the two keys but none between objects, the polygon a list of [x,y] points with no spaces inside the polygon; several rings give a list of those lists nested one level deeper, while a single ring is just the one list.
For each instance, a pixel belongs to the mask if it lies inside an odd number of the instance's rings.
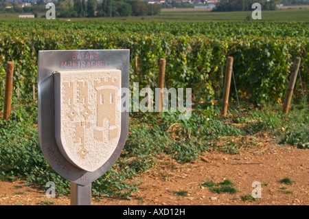
[{"label": "dense green grapevine rows behind the shield sign and wooden stakes", "polygon": [[[192,87],[198,100],[214,101],[220,97],[217,88],[224,77],[225,60],[233,56],[233,72],[242,97],[253,104],[280,100],[286,92],[286,76],[296,56],[301,57],[303,81],[308,81],[308,23],[251,25],[243,22],[0,23],[0,76],[5,72],[5,62],[14,61],[14,87],[32,93],[39,50],[130,49],[131,82],[138,80],[141,86],[155,87],[157,61],[165,58],[168,87]],[[139,77],[134,75],[136,56]]]}]

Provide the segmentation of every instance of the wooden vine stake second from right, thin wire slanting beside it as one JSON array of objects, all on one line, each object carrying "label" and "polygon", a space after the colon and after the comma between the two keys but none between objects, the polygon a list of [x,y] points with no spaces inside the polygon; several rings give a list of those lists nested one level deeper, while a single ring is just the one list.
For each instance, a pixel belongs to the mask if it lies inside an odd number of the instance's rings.
[{"label": "wooden vine stake second from right, thin wire slanting beside it", "polygon": [[229,88],[231,87],[231,72],[233,69],[233,57],[227,58],[227,69],[225,71],[225,87],[223,89],[221,115],[227,116],[227,106],[229,105]]}]

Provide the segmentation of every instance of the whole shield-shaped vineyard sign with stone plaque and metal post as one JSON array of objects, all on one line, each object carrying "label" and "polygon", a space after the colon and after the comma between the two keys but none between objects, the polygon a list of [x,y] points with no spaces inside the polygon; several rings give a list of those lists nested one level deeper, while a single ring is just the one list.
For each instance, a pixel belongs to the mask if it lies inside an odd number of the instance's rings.
[{"label": "whole shield-shaped vineyard sign with stone plaque and metal post", "polygon": [[122,152],[129,68],[128,49],[38,52],[38,140],[71,205],[91,205],[91,183]]}]

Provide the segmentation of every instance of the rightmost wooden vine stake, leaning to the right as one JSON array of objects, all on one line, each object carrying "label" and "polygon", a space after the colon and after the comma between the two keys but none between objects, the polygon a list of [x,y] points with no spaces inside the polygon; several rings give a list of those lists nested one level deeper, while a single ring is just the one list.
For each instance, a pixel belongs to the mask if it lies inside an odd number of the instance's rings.
[{"label": "rightmost wooden vine stake, leaning to the right", "polygon": [[295,87],[295,82],[297,78],[297,73],[301,58],[297,57],[293,64],[292,72],[290,73],[290,81],[288,82],[288,89],[286,91],[286,99],[284,100],[283,113],[288,113],[288,108],[290,108],[290,100],[292,100],[292,95]]}]

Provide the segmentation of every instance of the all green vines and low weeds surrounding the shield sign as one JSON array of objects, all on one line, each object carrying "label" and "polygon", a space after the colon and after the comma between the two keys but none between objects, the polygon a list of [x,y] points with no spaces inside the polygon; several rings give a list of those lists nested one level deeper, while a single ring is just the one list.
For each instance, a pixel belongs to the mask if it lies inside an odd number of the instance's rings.
[{"label": "all green vines and low weeds surrounding the shield sign", "polygon": [[[139,185],[133,176],[151,168],[156,154],[173,154],[180,163],[191,161],[214,146],[220,136],[271,130],[277,133],[281,143],[308,147],[308,22],[0,21],[0,31],[2,82],[6,62],[14,62],[14,111],[9,122],[0,123],[0,143],[6,146],[0,148],[1,178],[20,177],[38,185],[52,180],[58,183],[60,194],[67,193],[69,183],[54,173],[38,146],[37,103],[32,99],[32,87],[37,83],[39,50],[130,49],[130,85],[139,82],[140,89],[157,86],[158,60],[165,58],[165,86],[192,88],[193,102],[198,104],[197,112],[187,122],[179,122],[177,113],[130,113],[132,121],[126,149],[104,179],[93,183],[93,194],[129,197]],[[247,118],[256,119],[246,128],[227,125],[225,119],[217,117],[228,56],[233,57],[231,104],[239,99],[252,109],[244,110]],[[301,64],[294,97],[299,103],[304,100],[305,106],[292,114],[292,119],[260,112],[259,108],[269,104],[278,106],[284,101],[288,77],[297,57],[301,58]],[[3,83],[0,85],[2,110]],[[234,122],[249,120],[237,109],[229,112]],[[294,128],[293,123],[296,123]],[[290,129],[282,130],[281,126]],[[297,127],[303,128],[296,133]],[[175,139],[174,135],[180,137]],[[235,149],[234,144],[224,151],[235,152]]]}]

